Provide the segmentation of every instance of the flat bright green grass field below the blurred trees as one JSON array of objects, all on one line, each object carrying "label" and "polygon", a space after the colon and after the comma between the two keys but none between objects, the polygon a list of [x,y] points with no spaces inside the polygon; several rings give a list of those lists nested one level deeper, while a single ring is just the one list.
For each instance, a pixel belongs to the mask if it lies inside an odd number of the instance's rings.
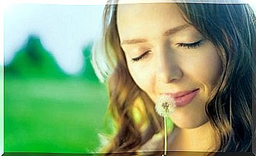
[{"label": "flat bright green grass field below the blurred trees", "polygon": [[95,152],[107,101],[93,81],[5,77],[4,152]]}]

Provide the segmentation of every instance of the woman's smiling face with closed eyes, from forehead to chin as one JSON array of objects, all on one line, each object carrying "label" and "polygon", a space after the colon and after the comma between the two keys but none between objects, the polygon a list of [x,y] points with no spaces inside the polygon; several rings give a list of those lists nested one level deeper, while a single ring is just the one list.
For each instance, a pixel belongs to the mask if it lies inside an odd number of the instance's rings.
[{"label": "woman's smiling face with closed eyes, from forehead to chin", "polygon": [[208,121],[206,101],[221,74],[214,45],[182,18],[174,3],[120,4],[117,26],[130,74],[156,102],[174,98],[180,128]]}]

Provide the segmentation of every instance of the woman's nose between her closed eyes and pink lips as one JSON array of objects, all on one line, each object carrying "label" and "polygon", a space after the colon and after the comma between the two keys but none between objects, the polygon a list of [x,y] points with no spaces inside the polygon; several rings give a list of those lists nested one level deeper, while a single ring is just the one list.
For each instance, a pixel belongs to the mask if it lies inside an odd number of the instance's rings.
[{"label": "woman's nose between her closed eyes and pink lips", "polygon": [[183,73],[179,59],[175,54],[172,54],[170,49],[160,50],[157,60],[157,81],[173,83],[182,78]]}]

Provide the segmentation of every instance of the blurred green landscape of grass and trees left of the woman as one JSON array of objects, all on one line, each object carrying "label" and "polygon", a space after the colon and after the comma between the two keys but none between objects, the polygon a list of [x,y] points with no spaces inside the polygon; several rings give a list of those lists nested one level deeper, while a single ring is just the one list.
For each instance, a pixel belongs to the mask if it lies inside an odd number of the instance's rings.
[{"label": "blurred green landscape of grass and trees left of the woman", "polygon": [[98,134],[108,131],[108,97],[91,46],[77,75],[65,74],[37,36],[4,66],[4,152],[97,152]]}]

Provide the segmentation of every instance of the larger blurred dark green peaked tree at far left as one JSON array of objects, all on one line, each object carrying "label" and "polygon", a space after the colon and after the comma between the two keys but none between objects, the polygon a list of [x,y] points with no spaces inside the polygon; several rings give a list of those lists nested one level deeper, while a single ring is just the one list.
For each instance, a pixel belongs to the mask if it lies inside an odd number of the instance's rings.
[{"label": "larger blurred dark green peaked tree at far left", "polygon": [[4,74],[19,78],[64,78],[66,76],[35,35],[30,35],[28,42],[16,53],[13,61],[4,66]]}]

